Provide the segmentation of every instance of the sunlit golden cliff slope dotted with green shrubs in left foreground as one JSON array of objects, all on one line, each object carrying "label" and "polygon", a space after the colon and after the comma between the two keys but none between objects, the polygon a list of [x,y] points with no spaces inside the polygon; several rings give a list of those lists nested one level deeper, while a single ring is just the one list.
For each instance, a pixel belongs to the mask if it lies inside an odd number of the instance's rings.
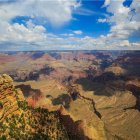
[{"label": "sunlit golden cliff slope dotted with green shrubs in left foreground", "polygon": [[69,139],[58,112],[31,108],[8,75],[0,76],[1,139]]}]

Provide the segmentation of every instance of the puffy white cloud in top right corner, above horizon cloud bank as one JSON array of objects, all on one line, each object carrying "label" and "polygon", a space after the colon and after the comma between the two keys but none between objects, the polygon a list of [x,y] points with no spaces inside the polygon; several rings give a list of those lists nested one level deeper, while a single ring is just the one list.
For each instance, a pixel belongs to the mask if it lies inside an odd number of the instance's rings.
[{"label": "puffy white cloud in top right corner, above horizon cloud bank", "polygon": [[[135,32],[140,32],[140,3],[138,0],[133,0],[130,7],[127,7],[124,6],[124,1],[110,1],[107,12],[112,16],[109,16],[107,21],[112,25],[110,36],[126,39],[134,35]],[[105,21],[105,19],[99,19],[99,21]]]}]

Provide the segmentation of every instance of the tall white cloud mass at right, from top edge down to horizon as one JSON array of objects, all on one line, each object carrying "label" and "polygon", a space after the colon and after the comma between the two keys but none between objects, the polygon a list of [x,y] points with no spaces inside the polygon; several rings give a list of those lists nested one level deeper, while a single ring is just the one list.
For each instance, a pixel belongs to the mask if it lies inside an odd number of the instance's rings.
[{"label": "tall white cloud mass at right, from top edge down to horizon", "polygon": [[107,49],[139,49],[140,43],[129,42],[129,37],[140,35],[140,3],[133,0],[128,7],[125,0],[105,0],[103,8],[106,8],[108,16],[99,18],[99,23],[110,24],[107,35],[101,35],[96,40],[104,43]]}]

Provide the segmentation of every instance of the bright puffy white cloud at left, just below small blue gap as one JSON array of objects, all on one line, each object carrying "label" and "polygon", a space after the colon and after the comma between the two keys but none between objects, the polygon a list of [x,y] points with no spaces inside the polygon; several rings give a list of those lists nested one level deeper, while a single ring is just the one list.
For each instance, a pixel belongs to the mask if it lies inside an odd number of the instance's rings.
[{"label": "bright puffy white cloud at left, just below small blue gap", "polygon": [[43,26],[25,27],[23,24],[8,24],[3,35],[0,34],[0,42],[37,42],[43,41],[45,37],[45,28]]}]

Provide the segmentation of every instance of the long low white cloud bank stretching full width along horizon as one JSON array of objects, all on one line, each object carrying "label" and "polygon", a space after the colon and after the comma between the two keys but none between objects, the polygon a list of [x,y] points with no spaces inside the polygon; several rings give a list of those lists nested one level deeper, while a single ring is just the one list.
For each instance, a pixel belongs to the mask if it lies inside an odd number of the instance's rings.
[{"label": "long low white cloud bank stretching full width along horizon", "polygon": [[107,36],[101,35],[98,38],[89,36],[78,38],[74,34],[62,34],[62,37],[57,36],[48,33],[41,25],[34,25],[32,21],[27,22],[27,26],[18,23],[8,24],[5,34],[0,37],[0,46],[2,47],[3,45],[10,50],[140,49],[140,43],[130,43],[126,39],[114,39],[111,34]]}]

